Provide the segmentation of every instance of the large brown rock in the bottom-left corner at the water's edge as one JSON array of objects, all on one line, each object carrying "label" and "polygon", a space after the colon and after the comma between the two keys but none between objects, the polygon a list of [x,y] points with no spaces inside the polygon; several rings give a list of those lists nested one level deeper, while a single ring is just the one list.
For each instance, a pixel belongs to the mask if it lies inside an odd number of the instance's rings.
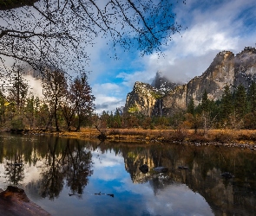
[{"label": "large brown rock in the bottom-left corner at the water's edge", "polygon": [[50,214],[30,201],[23,189],[8,186],[0,193],[0,215],[45,216]]}]

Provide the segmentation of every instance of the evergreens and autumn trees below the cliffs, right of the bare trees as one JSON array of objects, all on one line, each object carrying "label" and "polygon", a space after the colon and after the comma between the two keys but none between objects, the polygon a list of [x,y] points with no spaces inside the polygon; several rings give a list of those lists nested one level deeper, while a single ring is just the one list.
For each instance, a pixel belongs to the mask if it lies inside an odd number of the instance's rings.
[{"label": "evergreens and autumn trees below the cliffs, right of the bare trees", "polygon": [[204,91],[199,105],[191,98],[186,111],[177,111],[170,117],[144,116],[140,111],[115,113],[103,111],[102,128],[143,129],[256,129],[256,83],[246,90],[244,86],[225,86],[222,97],[209,99]]}]

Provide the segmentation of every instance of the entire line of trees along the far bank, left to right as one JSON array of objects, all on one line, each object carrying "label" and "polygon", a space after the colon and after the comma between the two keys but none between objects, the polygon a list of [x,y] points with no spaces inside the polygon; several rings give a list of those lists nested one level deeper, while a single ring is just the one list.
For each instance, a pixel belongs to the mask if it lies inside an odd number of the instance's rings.
[{"label": "entire line of trees along the far bank, left to right", "polygon": [[[30,90],[24,79],[24,69],[14,64],[4,78],[0,92],[0,125],[12,130],[80,130],[82,126],[96,128],[142,129],[255,129],[256,83],[248,89],[225,86],[222,97],[209,99],[202,94],[199,105],[191,98],[186,111],[173,116],[145,116],[140,111],[103,111],[95,114],[95,97],[86,73],[75,78],[62,70],[44,67],[40,73],[43,97]],[[6,77],[8,79],[6,79]]]}]

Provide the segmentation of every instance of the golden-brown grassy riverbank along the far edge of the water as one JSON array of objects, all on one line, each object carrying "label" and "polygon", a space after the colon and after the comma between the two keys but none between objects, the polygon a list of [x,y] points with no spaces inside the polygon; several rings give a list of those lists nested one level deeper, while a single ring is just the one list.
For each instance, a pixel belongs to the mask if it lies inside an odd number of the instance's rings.
[{"label": "golden-brown grassy riverbank along the far edge of the water", "polygon": [[[58,137],[79,139],[102,138],[112,142],[144,142],[144,143],[191,143],[195,145],[244,145],[256,144],[256,130],[142,130],[142,129],[97,129],[82,128],[81,131],[44,132]],[[39,133],[39,132],[38,132]]]}]

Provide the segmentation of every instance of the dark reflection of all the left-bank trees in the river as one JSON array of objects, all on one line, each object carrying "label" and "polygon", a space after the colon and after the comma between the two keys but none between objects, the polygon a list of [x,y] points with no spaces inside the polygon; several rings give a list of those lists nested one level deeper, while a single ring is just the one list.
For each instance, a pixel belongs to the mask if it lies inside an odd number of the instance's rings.
[{"label": "dark reflection of all the left-bank trees in the river", "polygon": [[[40,188],[43,197],[54,199],[62,191],[64,183],[72,194],[82,194],[88,184],[88,177],[92,174],[90,150],[95,149],[91,142],[8,134],[0,137],[0,143],[0,160],[5,163],[5,176],[10,185],[21,183],[24,168],[32,164],[35,166],[40,161],[44,161],[42,179],[36,187]],[[15,162],[24,166],[14,166]]]}]

